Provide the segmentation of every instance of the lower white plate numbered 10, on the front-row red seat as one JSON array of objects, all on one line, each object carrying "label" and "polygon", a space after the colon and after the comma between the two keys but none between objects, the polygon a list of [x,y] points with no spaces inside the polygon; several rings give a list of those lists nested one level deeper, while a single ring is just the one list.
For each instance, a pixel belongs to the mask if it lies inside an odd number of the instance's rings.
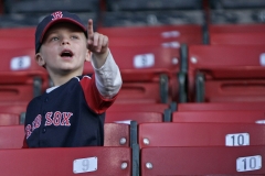
[{"label": "lower white plate numbered 10, on the front-row red seat", "polygon": [[262,156],[247,156],[247,157],[239,157],[236,160],[236,170],[237,172],[250,172],[262,168]]}]

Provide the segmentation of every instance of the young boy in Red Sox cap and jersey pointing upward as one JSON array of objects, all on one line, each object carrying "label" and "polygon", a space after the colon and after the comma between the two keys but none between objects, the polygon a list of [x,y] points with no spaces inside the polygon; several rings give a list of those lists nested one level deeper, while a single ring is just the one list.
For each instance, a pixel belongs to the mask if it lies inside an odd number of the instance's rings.
[{"label": "young boy in Red Sox cap and jersey pointing upward", "polygon": [[[36,28],[35,61],[54,87],[29,103],[23,147],[103,145],[105,111],[121,87],[108,37],[93,32],[92,20],[86,30],[77,15],[54,12]],[[95,74],[81,76],[88,61]]]}]

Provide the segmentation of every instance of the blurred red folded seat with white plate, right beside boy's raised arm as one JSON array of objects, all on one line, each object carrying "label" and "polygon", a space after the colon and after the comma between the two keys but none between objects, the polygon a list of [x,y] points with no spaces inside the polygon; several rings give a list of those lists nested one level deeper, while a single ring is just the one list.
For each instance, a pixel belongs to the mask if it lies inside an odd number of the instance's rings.
[{"label": "blurred red folded seat with white plate, right beside boy's raised arm", "polygon": [[[110,46],[123,87],[117,102],[169,103],[178,100],[179,52],[161,46]],[[93,73],[91,63],[84,73]]]}]

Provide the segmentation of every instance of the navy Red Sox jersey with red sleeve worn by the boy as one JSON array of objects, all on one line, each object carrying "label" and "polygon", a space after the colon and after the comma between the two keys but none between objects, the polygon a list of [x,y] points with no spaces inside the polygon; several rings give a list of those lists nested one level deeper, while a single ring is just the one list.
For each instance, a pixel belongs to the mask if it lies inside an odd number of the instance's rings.
[{"label": "navy Red Sox jersey with red sleeve worn by the boy", "polygon": [[74,77],[34,98],[26,108],[23,147],[104,145],[105,111],[115,98],[102,97],[95,76]]}]

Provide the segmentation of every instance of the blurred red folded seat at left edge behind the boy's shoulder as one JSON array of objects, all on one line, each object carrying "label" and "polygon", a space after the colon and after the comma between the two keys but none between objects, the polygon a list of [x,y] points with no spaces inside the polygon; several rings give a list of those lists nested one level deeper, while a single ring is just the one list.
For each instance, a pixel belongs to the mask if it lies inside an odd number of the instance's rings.
[{"label": "blurred red folded seat at left edge behind the boy's shoulder", "polygon": [[35,59],[34,48],[0,50],[0,101],[30,101],[49,86],[49,76]]}]

